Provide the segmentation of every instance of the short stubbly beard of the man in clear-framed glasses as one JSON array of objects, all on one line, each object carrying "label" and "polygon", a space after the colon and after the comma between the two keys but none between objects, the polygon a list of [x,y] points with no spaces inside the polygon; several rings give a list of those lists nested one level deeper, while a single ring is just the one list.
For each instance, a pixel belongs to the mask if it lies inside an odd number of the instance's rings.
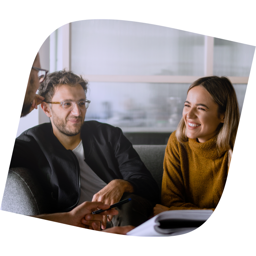
[{"label": "short stubbly beard of the man in clear-framed glasses", "polygon": [[81,128],[84,124],[84,120],[81,116],[69,116],[68,119],[76,119],[81,120],[81,123],[75,124],[72,126],[74,129],[70,129],[67,127],[67,121],[60,119],[54,112],[52,112],[52,122],[58,129],[58,131],[66,136],[75,136],[81,132]]}]

